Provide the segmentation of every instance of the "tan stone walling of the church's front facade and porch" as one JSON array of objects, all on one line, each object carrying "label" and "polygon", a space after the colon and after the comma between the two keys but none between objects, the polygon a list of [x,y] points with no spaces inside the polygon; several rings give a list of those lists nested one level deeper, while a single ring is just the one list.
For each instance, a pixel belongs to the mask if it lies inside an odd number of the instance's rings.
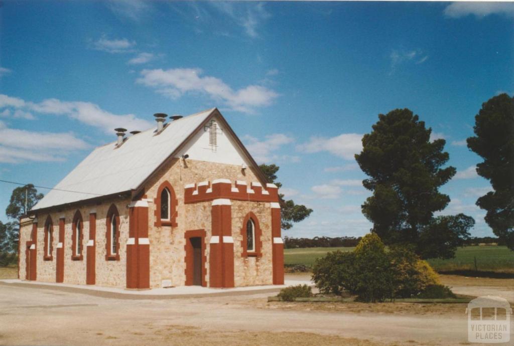
[{"label": "tan stone walling of the church's front facade and porch", "polygon": [[[242,180],[248,183],[259,181],[253,169],[241,169],[241,166],[220,164],[206,161],[173,159],[157,172],[145,188],[148,200],[154,202],[157,190],[164,181],[169,181],[175,190],[178,206],[176,209],[177,226],[155,226],[155,203],[149,206],[149,239],[150,239],[150,286],[161,287],[162,280],[171,280],[172,285],[182,286],[185,283],[185,238],[187,230],[205,229],[206,231],[206,279],[209,285],[209,240],[211,237],[211,202],[184,204],[184,187],[187,184],[215,179]],[[267,204],[267,207],[265,206]],[[236,286],[271,283],[271,225],[269,203],[243,202],[234,203],[232,234],[234,238],[234,257],[236,265]],[[241,222],[246,216],[241,214],[252,209],[261,218],[263,229],[263,257],[256,260],[241,258]],[[257,210],[257,212],[255,211]],[[261,221],[261,220],[260,220]],[[236,238],[237,237],[237,238]],[[236,239],[238,239],[236,241]],[[266,245],[264,246],[264,243]]]}]

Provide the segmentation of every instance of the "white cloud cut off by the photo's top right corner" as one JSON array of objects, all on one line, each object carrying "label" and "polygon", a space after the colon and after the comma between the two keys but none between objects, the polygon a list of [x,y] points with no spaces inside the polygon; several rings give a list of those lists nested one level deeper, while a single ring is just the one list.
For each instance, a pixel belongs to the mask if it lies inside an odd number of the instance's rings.
[{"label": "white cloud cut off by the photo's top right corner", "polygon": [[511,2],[455,2],[444,11],[450,18],[460,18],[470,14],[484,17],[489,14],[502,14],[514,17],[514,4]]}]

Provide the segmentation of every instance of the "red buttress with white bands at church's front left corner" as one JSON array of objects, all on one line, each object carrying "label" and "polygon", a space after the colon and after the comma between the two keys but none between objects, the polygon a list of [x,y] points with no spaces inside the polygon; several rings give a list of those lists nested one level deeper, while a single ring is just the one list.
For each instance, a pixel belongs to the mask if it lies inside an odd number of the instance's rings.
[{"label": "red buttress with white bands at church's front left corner", "polygon": [[148,202],[132,202],[128,210],[127,289],[150,288],[150,241]]}]

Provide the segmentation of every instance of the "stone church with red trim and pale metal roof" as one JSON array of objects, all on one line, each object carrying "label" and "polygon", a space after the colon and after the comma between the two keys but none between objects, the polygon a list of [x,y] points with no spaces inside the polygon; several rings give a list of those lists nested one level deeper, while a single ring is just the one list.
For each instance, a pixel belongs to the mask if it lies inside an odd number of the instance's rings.
[{"label": "stone church with red trim and pale metal roof", "polygon": [[20,220],[19,276],[127,289],[284,283],[277,186],[216,109],[118,128]]}]

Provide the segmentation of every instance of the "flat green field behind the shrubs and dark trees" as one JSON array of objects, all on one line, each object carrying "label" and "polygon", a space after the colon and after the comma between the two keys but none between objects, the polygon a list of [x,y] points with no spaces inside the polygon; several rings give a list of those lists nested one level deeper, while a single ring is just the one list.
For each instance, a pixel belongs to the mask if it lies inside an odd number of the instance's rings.
[{"label": "flat green field behind the shrubs and dark trees", "polygon": [[[284,250],[286,265],[312,266],[318,257],[329,251],[352,251],[354,247],[310,247]],[[449,260],[430,259],[436,271],[474,270],[474,258],[479,271],[514,273],[514,252],[506,246],[465,246],[457,249],[455,258]]]}]

